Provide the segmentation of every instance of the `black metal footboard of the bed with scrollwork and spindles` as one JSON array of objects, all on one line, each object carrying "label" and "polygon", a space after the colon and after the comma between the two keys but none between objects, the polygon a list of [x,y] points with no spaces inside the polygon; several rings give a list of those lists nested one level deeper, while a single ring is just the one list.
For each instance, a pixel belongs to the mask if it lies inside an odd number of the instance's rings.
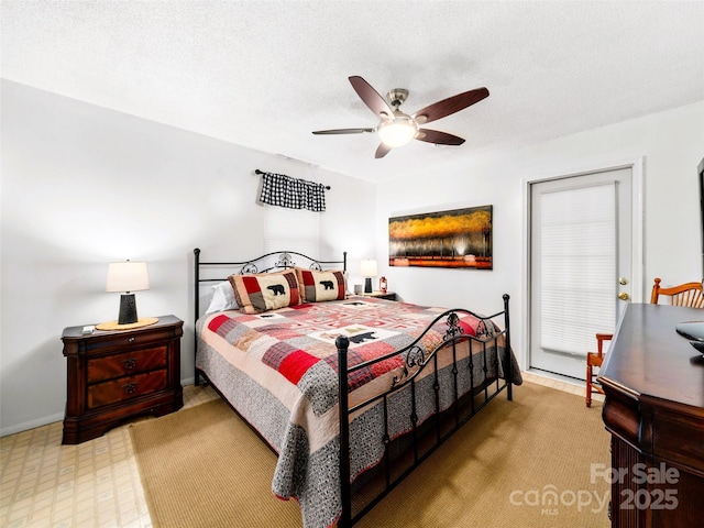
[{"label": "black metal footboard of the bed with scrollwork and spindles", "polygon": [[[339,361],[339,406],[340,406],[340,485],[342,513],[338,521],[339,528],[346,528],[356,522],[363,515],[372,509],[384,496],[386,496],[403,479],[426,460],[440,444],[453,435],[462,425],[476,415],[502,391],[506,389],[507,398],[513,399],[514,365],[510,348],[510,326],[508,300],[509,296],[503,296],[504,310],[488,317],[479,316],[464,309],[448,310],[438,316],[432,323],[408,346],[374,360],[348,366],[348,349],[350,341],[345,337],[339,337],[336,341]],[[464,333],[459,324],[458,314],[470,314],[480,320],[476,336]],[[504,316],[504,329],[498,329],[491,319]],[[420,341],[436,323],[444,320],[447,330],[442,343],[432,351],[426,351]],[[499,345],[499,342],[503,344]],[[458,354],[458,345],[466,342],[469,346],[468,358],[461,359]],[[439,353],[450,353],[449,364],[439,369]],[[447,352],[444,352],[447,351]],[[362,369],[369,369],[375,363],[387,361],[399,355],[404,360],[400,375],[396,376],[388,389],[380,395],[370,397],[364,402],[350,406],[348,387],[350,376]],[[444,360],[448,361],[447,359]],[[432,372],[426,372],[425,383],[432,386],[435,398],[435,411],[422,421],[417,415],[417,384],[421,374],[429,367]],[[495,369],[495,370],[493,370]],[[443,373],[440,375],[440,373]],[[475,384],[475,380],[481,383]],[[449,383],[450,387],[441,386]],[[469,384],[469,385],[468,385]],[[392,438],[389,438],[389,410],[388,402],[399,391],[408,391],[410,399],[409,422],[410,431],[404,435],[406,447],[403,448],[407,463],[400,471],[392,472],[394,463],[392,455]],[[441,397],[441,394],[443,395]],[[448,405],[448,394],[451,396]],[[441,399],[444,402],[441,404]],[[377,481],[381,481],[378,493],[373,493],[372,498],[366,498],[365,504],[353,512],[353,486],[351,484],[351,443],[350,424],[351,417],[356,411],[372,405],[383,406],[384,436],[380,439],[384,443],[385,454],[378,464]],[[376,490],[376,488],[375,488]],[[369,492],[367,492],[369,495]]]}]

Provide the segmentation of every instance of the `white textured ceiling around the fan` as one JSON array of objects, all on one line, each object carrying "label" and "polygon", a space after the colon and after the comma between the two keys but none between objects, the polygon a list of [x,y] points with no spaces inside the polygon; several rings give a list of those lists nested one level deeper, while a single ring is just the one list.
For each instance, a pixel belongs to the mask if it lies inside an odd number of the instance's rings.
[{"label": "white textured ceiling around the fan", "polygon": [[[11,1],[6,79],[372,182],[704,100],[704,2]],[[348,81],[406,88],[461,146],[374,160]]]}]

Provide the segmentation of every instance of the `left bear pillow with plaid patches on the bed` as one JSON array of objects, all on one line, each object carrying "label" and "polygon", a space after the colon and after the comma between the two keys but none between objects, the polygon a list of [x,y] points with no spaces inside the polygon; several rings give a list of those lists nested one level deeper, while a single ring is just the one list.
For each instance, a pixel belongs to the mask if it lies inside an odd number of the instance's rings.
[{"label": "left bear pillow with plaid patches on the bed", "polygon": [[298,279],[294,270],[253,275],[230,275],[234,298],[243,314],[261,314],[300,305]]}]

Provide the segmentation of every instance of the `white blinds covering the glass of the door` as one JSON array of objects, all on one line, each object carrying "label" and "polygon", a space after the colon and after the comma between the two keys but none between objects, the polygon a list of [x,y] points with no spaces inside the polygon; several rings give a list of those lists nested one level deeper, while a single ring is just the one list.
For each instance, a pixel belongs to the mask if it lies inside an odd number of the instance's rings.
[{"label": "white blinds covering the glass of the door", "polygon": [[616,320],[616,184],[546,193],[541,204],[540,345],[585,356]]}]

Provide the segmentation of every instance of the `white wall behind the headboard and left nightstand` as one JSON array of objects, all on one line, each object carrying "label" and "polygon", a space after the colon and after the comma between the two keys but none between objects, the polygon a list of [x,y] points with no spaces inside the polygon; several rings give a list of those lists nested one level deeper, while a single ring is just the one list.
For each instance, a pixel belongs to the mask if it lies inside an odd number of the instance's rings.
[{"label": "white wall behind the headboard and left nightstand", "polygon": [[143,258],[140,316],[185,323],[193,381],[193,249],[204,258],[263,252],[255,168],[331,186],[321,258],[349,252],[352,279],[373,253],[374,186],[14,82],[2,82],[0,432],[63,419],[65,327],[117,318],[111,261]]}]

